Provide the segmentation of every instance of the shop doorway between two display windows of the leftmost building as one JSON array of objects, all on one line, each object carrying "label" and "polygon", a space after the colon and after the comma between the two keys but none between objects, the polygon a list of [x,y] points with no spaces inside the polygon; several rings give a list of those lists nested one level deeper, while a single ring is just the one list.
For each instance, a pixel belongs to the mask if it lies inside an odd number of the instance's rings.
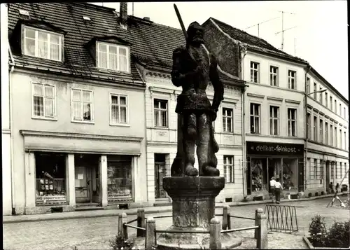
[{"label": "shop doorway between two display windows of the leftmost building", "polygon": [[75,155],[76,203],[100,203],[99,155]]}]

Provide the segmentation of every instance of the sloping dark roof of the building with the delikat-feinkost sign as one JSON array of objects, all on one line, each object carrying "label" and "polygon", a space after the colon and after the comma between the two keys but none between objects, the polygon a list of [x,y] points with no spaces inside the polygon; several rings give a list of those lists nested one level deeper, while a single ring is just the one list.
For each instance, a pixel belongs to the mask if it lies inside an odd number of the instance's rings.
[{"label": "sloping dark roof of the building with the delikat-feinkost sign", "polygon": [[289,55],[282,50],[279,50],[277,48],[274,48],[271,44],[267,43],[264,39],[260,39],[258,36],[253,36],[251,34],[248,34],[241,29],[237,29],[235,27],[232,27],[225,22],[221,22],[220,20],[217,20],[216,18],[209,18],[206,22],[209,22],[213,20],[220,29],[223,30],[226,34],[232,37],[232,39],[236,39],[240,41],[241,43],[244,43],[248,48],[254,49],[254,50],[260,50],[261,52],[265,53],[272,53],[274,55],[279,55],[281,57],[286,57],[289,59],[293,59],[302,63],[307,63],[307,61],[302,60],[299,57],[294,57],[293,55]]}]

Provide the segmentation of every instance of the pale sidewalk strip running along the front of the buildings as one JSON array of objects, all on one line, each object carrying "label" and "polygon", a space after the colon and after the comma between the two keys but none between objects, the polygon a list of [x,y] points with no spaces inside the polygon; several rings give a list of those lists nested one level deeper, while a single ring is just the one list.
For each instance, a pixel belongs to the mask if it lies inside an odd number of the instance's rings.
[{"label": "pale sidewalk strip running along the front of the buildings", "polygon": [[[339,193],[342,195],[342,193]],[[302,198],[302,199],[281,199],[283,202],[300,202],[322,199],[325,197],[332,197],[332,195],[323,195],[318,197]],[[221,208],[224,205],[230,207],[247,206],[253,204],[267,204],[271,200],[262,201],[251,201],[251,202],[228,202],[228,203],[216,203],[216,208]],[[165,207],[144,207],[146,214],[158,214],[171,212],[172,206]],[[72,218],[94,218],[94,217],[111,217],[118,216],[120,213],[126,213],[127,215],[137,215],[137,208],[134,209],[106,209],[106,210],[89,210],[89,211],[71,211],[63,213],[53,213],[53,214],[31,214],[31,215],[18,215],[18,216],[3,216],[3,223],[18,223],[27,221],[51,221],[51,220],[67,220]]]}]

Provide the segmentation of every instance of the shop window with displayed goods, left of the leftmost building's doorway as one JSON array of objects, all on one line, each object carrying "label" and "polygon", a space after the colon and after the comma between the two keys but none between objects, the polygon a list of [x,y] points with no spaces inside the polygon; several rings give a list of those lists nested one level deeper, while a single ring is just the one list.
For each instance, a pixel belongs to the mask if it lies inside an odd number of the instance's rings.
[{"label": "shop window with displayed goods, left of the leftmost building's doorway", "polygon": [[66,203],[66,155],[35,153],[36,204]]}]

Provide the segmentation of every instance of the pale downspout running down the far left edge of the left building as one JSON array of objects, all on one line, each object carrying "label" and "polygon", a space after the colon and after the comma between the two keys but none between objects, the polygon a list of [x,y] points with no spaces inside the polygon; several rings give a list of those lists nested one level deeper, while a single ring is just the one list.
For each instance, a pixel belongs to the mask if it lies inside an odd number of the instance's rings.
[{"label": "pale downspout running down the far left edge of the left building", "polygon": [[8,43],[8,51],[10,53],[10,58],[11,58],[11,62],[10,62],[10,66],[11,66],[11,70],[10,70],[10,74],[8,74],[8,95],[9,95],[9,102],[10,102],[10,168],[11,168],[11,176],[10,176],[10,180],[11,180],[11,204],[12,204],[12,215],[16,214],[15,211],[15,183],[14,181],[14,170],[13,170],[13,104],[12,104],[12,83],[11,83],[11,76],[13,74],[13,71],[15,70],[15,60],[13,59],[13,55],[12,55],[12,51],[10,48],[10,43]]}]

